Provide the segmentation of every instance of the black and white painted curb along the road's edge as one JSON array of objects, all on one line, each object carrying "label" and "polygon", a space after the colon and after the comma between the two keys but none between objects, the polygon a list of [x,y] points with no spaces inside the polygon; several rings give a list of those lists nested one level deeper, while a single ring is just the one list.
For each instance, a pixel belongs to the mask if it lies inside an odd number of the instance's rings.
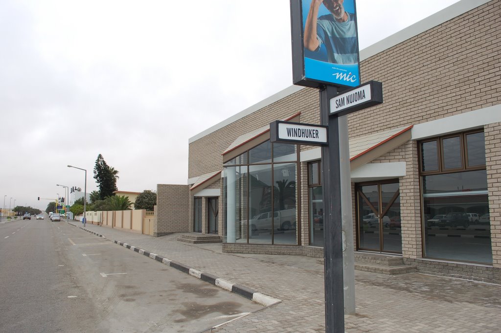
[{"label": "black and white painted curb along the road's edge", "polygon": [[[69,223],[69,222],[67,222],[67,223]],[[75,225],[75,224],[72,224],[72,223],[69,223],[69,224],[77,227],[77,225]],[[92,234],[94,234],[96,236],[108,239],[105,236],[103,236],[102,234],[99,234],[97,232],[91,231],[91,230],[86,229],[84,227],[80,227],[80,226],[78,226],[78,227],[80,229],[85,230],[87,232],[90,232],[90,233],[92,233]],[[195,268],[190,267],[188,265],[185,265],[183,263],[171,260],[169,258],[163,257],[163,256],[158,255],[156,253],[152,253],[150,251],[141,249],[139,247],[136,247],[136,246],[133,246],[133,245],[130,245],[130,244],[118,241],[118,240],[111,240],[111,239],[109,239],[109,240],[112,241],[112,242],[114,242],[114,243],[116,243],[116,244],[118,244],[118,245],[120,245],[120,246],[128,248],[128,249],[130,249],[130,250],[132,250],[134,252],[137,252],[139,254],[143,254],[143,255],[145,255],[147,257],[150,257],[151,259],[156,260],[158,262],[161,262],[161,263],[163,263],[165,265],[168,265],[168,266],[170,266],[172,268],[175,268],[175,269],[180,270],[180,271],[182,271],[184,273],[190,274],[191,276],[194,276],[194,277],[196,277],[196,278],[198,278],[200,280],[203,280],[205,282],[209,282],[210,284],[213,284],[213,285],[215,285],[215,286],[217,286],[219,288],[222,288],[224,290],[236,293],[236,294],[238,294],[240,296],[243,296],[243,297],[245,297],[247,299],[250,299],[253,302],[256,302],[256,303],[259,303],[259,304],[262,304],[262,305],[265,305],[265,306],[271,306],[271,305],[278,304],[278,303],[282,302],[281,299],[265,295],[265,294],[263,294],[261,292],[257,292],[256,290],[247,288],[247,287],[245,287],[243,285],[240,285],[240,284],[229,282],[227,280],[224,280],[224,279],[219,278],[217,276],[214,276],[212,274],[204,273],[202,271],[199,271],[198,269],[195,269]]]}]

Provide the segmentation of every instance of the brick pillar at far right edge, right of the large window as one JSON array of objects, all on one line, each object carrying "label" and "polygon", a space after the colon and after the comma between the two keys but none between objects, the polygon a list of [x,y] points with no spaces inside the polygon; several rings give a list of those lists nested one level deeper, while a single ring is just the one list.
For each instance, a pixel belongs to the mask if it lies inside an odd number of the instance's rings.
[{"label": "brick pillar at far right edge, right of the large window", "polygon": [[492,265],[501,268],[501,123],[485,126]]}]

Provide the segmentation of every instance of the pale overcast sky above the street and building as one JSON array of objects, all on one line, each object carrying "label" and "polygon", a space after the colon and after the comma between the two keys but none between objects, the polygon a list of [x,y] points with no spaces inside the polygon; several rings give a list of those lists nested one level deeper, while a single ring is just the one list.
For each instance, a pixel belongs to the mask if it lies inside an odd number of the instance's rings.
[{"label": "pale overcast sky above the street and building", "polygon": [[[360,49],[457,0],[357,0]],[[292,85],[289,0],[0,1],[0,202],[186,184],[188,138]],[[11,200],[12,197],[12,200]],[[3,205],[3,203],[0,203]]]}]

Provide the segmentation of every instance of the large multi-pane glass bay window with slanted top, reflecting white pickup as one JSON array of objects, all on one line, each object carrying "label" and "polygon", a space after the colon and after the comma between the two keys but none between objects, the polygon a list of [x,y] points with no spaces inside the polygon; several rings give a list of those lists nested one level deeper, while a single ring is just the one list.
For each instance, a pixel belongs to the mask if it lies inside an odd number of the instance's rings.
[{"label": "large multi-pane glass bay window with slanted top, reflecting white pickup", "polygon": [[297,161],[295,145],[268,140],[224,164],[225,242],[298,243]]}]

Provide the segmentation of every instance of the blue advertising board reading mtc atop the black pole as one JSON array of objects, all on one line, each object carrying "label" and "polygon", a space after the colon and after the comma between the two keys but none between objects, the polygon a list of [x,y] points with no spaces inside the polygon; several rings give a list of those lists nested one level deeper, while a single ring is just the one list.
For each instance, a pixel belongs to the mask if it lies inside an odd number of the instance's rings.
[{"label": "blue advertising board reading mtc atop the black pole", "polygon": [[360,85],[355,0],[291,0],[295,85]]}]

